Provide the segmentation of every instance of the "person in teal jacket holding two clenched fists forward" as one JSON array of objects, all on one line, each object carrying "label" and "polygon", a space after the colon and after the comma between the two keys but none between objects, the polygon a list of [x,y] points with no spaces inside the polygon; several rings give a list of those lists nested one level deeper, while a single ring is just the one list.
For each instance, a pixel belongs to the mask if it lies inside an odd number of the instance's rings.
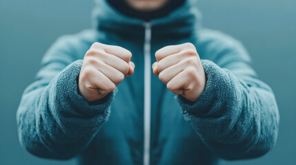
[{"label": "person in teal jacket holding two clenched fists forward", "polygon": [[[272,89],[194,0],[97,0],[94,28],[62,36],[17,111],[30,153],[79,164],[217,164],[275,145]],[[82,60],[83,59],[83,60]]]}]

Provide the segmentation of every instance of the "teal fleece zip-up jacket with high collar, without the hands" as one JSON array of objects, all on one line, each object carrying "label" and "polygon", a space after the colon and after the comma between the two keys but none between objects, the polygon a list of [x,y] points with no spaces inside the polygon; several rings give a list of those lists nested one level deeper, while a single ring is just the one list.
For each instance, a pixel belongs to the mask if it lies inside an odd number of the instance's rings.
[{"label": "teal fleece zip-up jacket with high collar, without the hands", "polygon": [[[193,43],[206,73],[196,102],[175,96],[151,74],[150,164],[217,164],[264,155],[275,145],[279,113],[273,91],[258,80],[235,39],[201,28],[195,1],[150,21],[151,62],[166,45]],[[97,1],[94,28],[62,36],[23,92],[19,140],[30,153],[79,164],[144,162],[144,23]],[[86,101],[77,87],[94,42],[132,52],[135,74],[105,98]],[[151,65],[152,65],[151,63]]]}]

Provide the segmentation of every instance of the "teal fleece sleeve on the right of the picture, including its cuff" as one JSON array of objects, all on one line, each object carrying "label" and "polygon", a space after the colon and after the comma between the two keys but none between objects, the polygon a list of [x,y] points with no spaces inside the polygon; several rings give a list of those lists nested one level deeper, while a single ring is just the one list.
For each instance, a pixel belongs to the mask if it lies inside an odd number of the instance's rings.
[{"label": "teal fleece sleeve on the right of the picture, including its cuff", "polygon": [[273,91],[257,79],[237,41],[213,42],[208,49],[215,52],[201,60],[206,89],[196,102],[177,96],[185,120],[219,157],[264,155],[275,145],[279,125]]}]

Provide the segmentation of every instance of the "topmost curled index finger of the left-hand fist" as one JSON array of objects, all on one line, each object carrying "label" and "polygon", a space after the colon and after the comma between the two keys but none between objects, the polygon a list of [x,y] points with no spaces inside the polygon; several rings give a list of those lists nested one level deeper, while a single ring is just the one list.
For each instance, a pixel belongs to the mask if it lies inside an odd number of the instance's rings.
[{"label": "topmost curled index finger of the left-hand fist", "polygon": [[90,47],[90,49],[95,50],[103,50],[104,52],[111,54],[113,56],[117,56],[118,58],[121,58],[122,60],[126,61],[126,63],[130,62],[130,58],[132,58],[132,53],[124,47],[119,47],[115,45],[106,45],[103,43],[94,43]]}]

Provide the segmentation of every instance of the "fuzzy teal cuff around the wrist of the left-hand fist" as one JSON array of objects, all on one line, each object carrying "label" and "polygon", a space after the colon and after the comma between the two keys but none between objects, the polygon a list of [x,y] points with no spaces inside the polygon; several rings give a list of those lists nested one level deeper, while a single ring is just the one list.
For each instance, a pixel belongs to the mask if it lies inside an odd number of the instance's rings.
[{"label": "fuzzy teal cuff around the wrist of the left-hand fist", "polygon": [[88,102],[88,100],[83,98],[79,94],[78,88],[78,79],[82,64],[82,60],[75,61],[63,69],[59,76],[57,76],[55,97],[57,97],[60,104],[70,104],[75,111],[75,115],[93,117],[94,115],[104,113],[107,117],[110,113],[110,104],[115,96],[115,91],[94,102]]}]

